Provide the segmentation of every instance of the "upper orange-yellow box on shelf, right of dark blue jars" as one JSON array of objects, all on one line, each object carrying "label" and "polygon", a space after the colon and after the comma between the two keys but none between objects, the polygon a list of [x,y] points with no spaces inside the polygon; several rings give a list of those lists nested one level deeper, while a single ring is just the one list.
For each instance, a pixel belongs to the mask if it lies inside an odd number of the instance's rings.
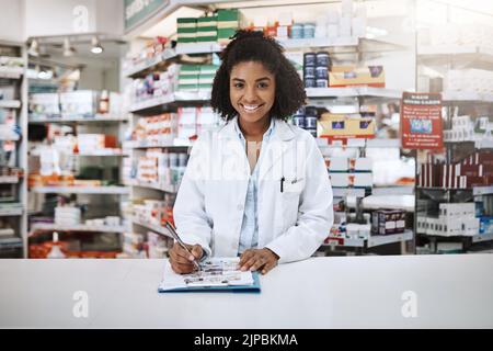
[{"label": "upper orange-yellow box on shelf, right of dark blue jars", "polygon": [[329,87],[386,87],[383,66],[333,66],[329,72]]}]

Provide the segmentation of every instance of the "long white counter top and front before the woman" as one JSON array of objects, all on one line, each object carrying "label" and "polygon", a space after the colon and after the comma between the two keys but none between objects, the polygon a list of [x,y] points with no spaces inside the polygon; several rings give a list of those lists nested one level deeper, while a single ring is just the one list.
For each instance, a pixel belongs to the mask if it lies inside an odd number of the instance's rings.
[{"label": "long white counter top and front before the woman", "polygon": [[[493,254],[316,258],[262,276],[261,294],[158,294],[162,267],[1,260],[0,328],[493,327]],[[73,316],[77,291],[88,318]],[[406,291],[416,317],[402,315]]]}]

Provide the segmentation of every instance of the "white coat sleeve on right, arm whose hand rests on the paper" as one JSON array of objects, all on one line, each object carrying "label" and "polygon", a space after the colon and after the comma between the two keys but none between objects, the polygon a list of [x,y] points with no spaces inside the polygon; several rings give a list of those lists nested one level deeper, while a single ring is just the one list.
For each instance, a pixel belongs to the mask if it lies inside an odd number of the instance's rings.
[{"label": "white coat sleeve on right, arm whose hand rests on the paper", "polygon": [[313,254],[329,236],[334,222],[329,173],[313,138],[309,141],[306,165],[307,179],[300,194],[297,224],[266,246],[279,257],[279,263]]}]

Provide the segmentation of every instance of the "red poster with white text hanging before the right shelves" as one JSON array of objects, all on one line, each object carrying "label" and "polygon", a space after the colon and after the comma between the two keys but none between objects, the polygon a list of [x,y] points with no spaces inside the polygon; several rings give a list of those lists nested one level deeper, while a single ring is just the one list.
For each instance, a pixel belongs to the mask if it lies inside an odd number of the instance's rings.
[{"label": "red poster with white text hanging before the right shelves", "polygon": [[442,94],[404,92],[401,100],[401,139],[404,149],[442,149]]}]

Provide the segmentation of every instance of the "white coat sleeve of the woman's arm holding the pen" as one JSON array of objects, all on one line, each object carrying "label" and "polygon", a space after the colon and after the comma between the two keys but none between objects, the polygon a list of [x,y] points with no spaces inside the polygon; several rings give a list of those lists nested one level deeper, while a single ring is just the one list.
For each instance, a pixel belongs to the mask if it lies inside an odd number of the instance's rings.
[{"label": "white coat sleeve of the woman's arm holding the pen", "polygon": [[176,231],[185,244],[198,244],[211,256],[211,222],[205,210],[204,189],[207,174],[207,136],[199,137],[192,149],[173,207]]}]

